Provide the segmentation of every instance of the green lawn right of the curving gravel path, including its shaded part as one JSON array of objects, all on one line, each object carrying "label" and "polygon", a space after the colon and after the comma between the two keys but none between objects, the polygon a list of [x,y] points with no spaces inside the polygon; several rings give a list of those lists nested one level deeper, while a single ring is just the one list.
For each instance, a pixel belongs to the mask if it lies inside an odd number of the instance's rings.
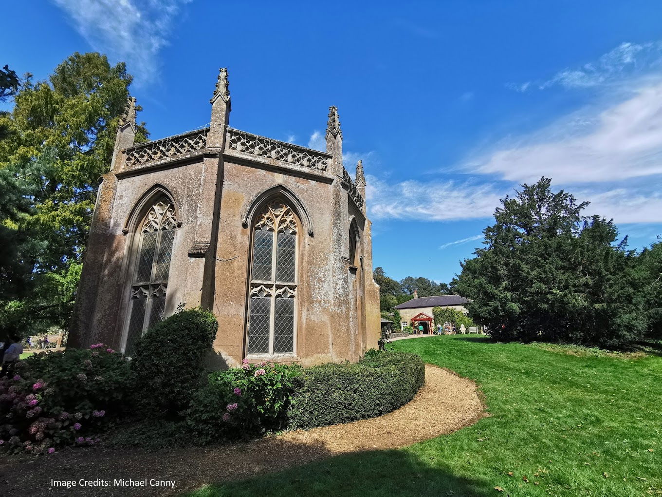
[{"label": "green lawn right of the curving gravel path, including its shaded part", "polygon": [[491,417],[405,449],[334,457],[195,495],[498,495],[495,486],[517,496],[662,495],[662,357],[578,357],[577,348],[465,336],[390,347],[475,380]]}]

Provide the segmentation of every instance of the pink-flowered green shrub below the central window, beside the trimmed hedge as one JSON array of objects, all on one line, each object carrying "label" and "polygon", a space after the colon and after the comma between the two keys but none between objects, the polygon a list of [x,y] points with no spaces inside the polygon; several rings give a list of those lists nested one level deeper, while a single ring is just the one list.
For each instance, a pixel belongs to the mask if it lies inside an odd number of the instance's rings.
[{"label": "pink-flowered green shrub below the central window, beside the trimmed hedge", "polygon": [[284,427],[293,378],[299,374],[299,366],[246,359],[240,368],[213,372],[185,413],[195,441],[246,438]]}]

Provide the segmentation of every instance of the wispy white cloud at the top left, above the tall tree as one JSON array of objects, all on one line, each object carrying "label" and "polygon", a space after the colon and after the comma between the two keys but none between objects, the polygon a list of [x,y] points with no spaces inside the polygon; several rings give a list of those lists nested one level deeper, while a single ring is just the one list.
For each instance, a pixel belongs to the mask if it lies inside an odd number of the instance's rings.
[{"label": "wispy white cloud at the top left, above the tall tree", "polygon": [[173,21],[191,0],[52,0],[99,52],[124,61],[136,84],[158,76],[158,53],[166,46]]}]

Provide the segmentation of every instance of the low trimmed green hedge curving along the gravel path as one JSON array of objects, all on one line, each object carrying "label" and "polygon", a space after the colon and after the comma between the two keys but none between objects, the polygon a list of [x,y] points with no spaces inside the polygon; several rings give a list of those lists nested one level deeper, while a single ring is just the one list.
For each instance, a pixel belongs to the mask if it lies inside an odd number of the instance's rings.
[{"label": "low trimmed green hedge curving along the gravel path", "polygon": [[356,364],[306,368],[293,380],[289,425],[312,428],[376,417],[404,406],[423,386],[425,366],[416,354],[381,352]]}]

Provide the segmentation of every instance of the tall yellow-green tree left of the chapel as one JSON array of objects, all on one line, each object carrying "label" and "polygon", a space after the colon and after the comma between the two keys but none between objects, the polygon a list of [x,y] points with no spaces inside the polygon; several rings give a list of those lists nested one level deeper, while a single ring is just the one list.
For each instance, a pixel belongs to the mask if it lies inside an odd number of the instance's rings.
[{"label": "tall yellow-green tree left of the chapel", "polygon": [[[27,74],[13,111],[0,115],[0,197],[11,197],[0,211],[3,242],[11,241],[0,260],[3,276],[11,274],[0,288],[5,329],[68,323],[99,177],[109,170],[131,81],[124,63],[75,53],[48,82]],[[136,141],[147,135],[141,123]]]}]

